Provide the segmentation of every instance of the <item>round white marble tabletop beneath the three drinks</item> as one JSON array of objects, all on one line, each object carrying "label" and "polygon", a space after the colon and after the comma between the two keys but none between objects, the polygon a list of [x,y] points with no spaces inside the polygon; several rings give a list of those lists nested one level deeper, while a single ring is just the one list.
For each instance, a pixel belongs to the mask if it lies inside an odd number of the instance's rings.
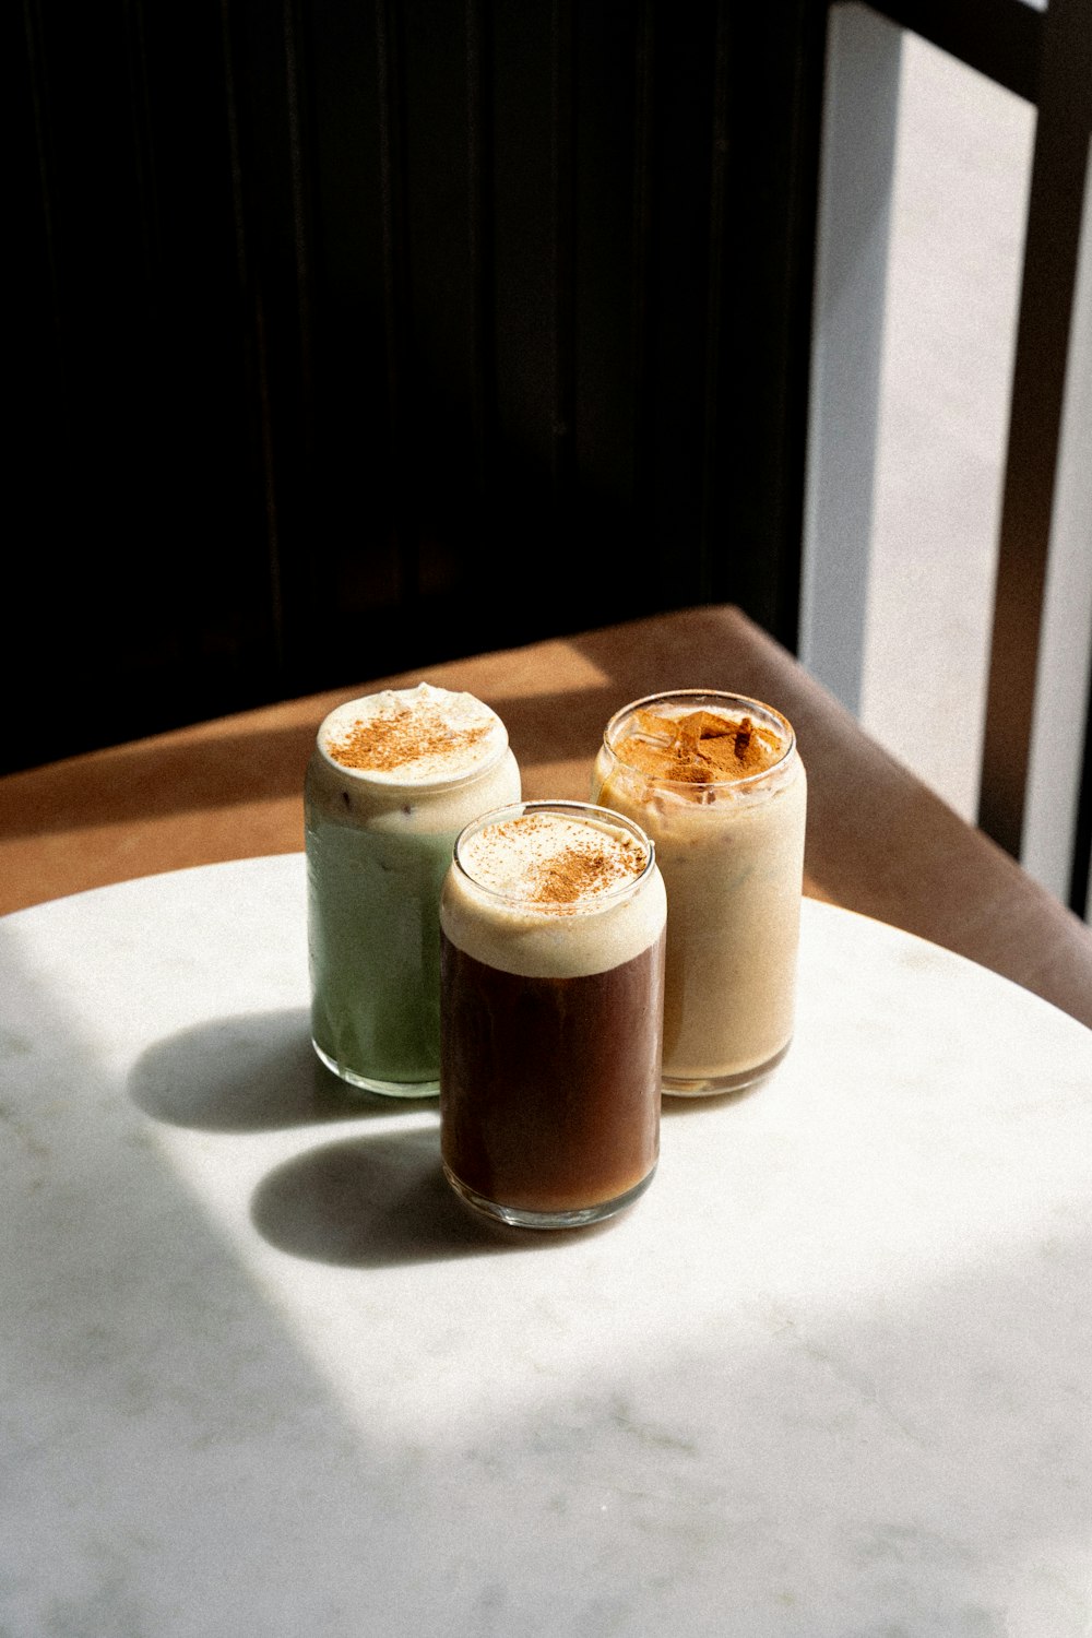
[{"label": "round white marble tabletop beneath the three drinks", "polygon": [[306,1038],[298,855],[0,921],[3,1638],[1092,1630],[1092,1034],[805,904],[562,1237]]}]

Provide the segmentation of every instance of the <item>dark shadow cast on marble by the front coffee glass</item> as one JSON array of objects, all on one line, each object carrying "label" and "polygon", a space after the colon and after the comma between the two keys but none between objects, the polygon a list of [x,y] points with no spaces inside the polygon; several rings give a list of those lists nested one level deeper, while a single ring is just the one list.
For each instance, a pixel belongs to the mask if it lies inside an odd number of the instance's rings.
[{"label": "dark shadow cast on marble by the front coffee glass", "polygon": [[250,1220],[280,1251],[347,1268],[540,1251],[611,1228],[535,1232],[478,1217],[444,1178],[439,1127],[345,1138],[300,1155],[259,1184]]}]

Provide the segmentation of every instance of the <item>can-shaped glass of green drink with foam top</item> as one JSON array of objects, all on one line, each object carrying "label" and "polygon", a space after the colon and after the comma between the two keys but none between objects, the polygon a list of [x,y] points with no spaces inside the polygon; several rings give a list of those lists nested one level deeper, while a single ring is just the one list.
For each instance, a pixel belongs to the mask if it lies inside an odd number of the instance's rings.
[{"label": "can-shaped glass of green drink with foam top", "polygon": [[439,903],[455,837],[519,799],[504,724],[422,683],[323,721],[305,783],[311,1038],[342,1081],[439,1091]]}]

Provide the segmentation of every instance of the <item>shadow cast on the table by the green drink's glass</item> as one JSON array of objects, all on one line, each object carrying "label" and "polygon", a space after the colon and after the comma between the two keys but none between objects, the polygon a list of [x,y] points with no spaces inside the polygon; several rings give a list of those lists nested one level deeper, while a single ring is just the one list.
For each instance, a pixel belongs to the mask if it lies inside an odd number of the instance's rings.
[{"label": "shadow cast on the table by the green drink's glass", "polygon": [[129,1075],[144,1114],[201,1132],[275,1132],[435,1109],[435,1097],[349,1091],[314,1055],[306,1007],[211,1019],[156,1042]]}]

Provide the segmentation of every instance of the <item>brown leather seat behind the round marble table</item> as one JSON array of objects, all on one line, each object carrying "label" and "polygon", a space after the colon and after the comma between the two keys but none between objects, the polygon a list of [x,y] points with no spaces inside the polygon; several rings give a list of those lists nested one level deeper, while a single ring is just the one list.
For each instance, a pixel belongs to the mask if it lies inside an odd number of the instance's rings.
[{"label": "brown leather seat behind the round marble table", "polygon": [[354,693],[427,680],[508,724],[524,794],[584,798],[607,717],[665,688],[778,706],[809,771],[805,891],[981,962],[1092,1027],[1092,932],[881,750],[735,608],[426,667],[0,780],[0,911],[129,876],[303,847],[314,731]]}]

